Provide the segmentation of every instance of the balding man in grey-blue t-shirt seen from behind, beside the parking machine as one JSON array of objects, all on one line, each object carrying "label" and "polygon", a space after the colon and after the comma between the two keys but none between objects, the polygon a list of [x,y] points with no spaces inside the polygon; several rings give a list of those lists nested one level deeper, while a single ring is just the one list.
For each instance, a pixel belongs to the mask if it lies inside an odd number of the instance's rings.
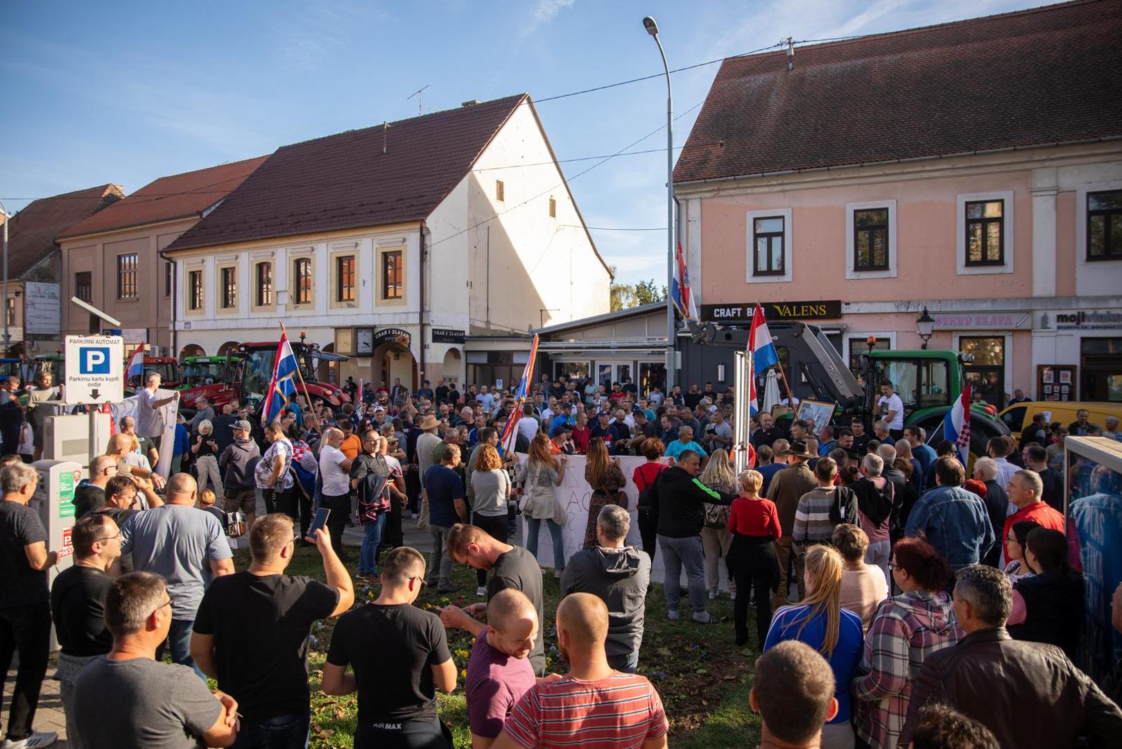
[{"label": "balding man in grey-blue t-shirt seen from behind, beside the parking machine", "polygon": [[[160,508],[138,512],[121,528],[121,554],[132,555],[134,569],[153,572],[167,581],[172,596],[172,660],[191,666],[191,630],[206,587],[213,577],[233,574],[230,542],[214,515],[194,506],[197,484],[191,474],[167,479],[166,501]],[[163,645],[156,658],[164,654]]]}]

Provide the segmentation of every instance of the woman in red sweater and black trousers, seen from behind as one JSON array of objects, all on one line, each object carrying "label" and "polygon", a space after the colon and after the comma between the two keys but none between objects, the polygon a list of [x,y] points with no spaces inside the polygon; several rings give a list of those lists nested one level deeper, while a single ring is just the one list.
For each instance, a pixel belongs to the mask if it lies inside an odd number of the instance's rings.
[{"label": "woman in red sweater and black trousers, seen from behind", "polygon": [[758,471],[745,471],[737,482],[741,495],[733,500],[728,513],[728,532],[733,544],[725,557],[728,574],[736,582],[738,595],[734,604],[736,643],[748,641],[748,595],[751,587],[756,604],[756,641],[763,648],[771,624],[771,593],[779,588],[779,561],[773,541],[779,540],[779,512],[775,503],[760,496],[764,477]]}]

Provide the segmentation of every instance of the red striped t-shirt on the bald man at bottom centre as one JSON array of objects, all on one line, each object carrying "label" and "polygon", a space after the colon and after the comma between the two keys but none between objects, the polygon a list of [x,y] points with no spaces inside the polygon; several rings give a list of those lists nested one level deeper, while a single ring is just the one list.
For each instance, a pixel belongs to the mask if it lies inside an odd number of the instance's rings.
[{"label": "red striped t-shirt on the bald man at bottom centre", "polygon": [[651,683],[615,672],[598,682],[565,676],[534,685],[511,712],[504,731],[527,749],[632,749],[669,728],[662,700]]}]

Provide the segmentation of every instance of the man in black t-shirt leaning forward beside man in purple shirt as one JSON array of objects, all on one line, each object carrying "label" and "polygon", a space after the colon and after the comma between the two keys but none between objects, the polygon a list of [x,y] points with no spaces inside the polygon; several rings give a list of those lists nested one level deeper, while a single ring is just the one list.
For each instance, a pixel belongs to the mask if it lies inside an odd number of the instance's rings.
[{"label": "man in black t-shirt leaning forward beside man in purple shirt", "polygon": [[[457,523],[448,533],[448,552],[460,564],[491,570],[487,583],[487,601],[499,591],[513,587],[525,593],[534,604],[537,621],[545,621],[542,618],[542,568],[537,566],[534,555],[525,548],[505,544],[476,526]],[[476,636],[482,631],[482,620],[486,616],[486,603],[473,603],[466,609],[448,605],[440,611],[440,620],[445,627],[460,627]],[[530,651],[530,664],[537,676],[545,675],[543,629],[537,628],[534,649]]]}]

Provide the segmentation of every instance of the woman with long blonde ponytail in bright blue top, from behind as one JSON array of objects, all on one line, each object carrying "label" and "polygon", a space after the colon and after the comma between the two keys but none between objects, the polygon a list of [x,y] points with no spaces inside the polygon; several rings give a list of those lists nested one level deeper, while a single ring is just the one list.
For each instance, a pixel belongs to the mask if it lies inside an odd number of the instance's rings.
[{"label": "woman with long blonde ponytail in bright blue top, from behind", "polygon": [[850,749],[854,746],[849,724],[852,703],[849,681],[861,659],[864,638],[861,618],[842,608],[842,575],[845,560],[833,546],[815,546],[807,551],[807,597],[793,606],[780,606],[767,631],[764,651],[784,640],[799,640],[818,650],[834,670],[834,696],[837,714],[822,727],[824,749]]}]

